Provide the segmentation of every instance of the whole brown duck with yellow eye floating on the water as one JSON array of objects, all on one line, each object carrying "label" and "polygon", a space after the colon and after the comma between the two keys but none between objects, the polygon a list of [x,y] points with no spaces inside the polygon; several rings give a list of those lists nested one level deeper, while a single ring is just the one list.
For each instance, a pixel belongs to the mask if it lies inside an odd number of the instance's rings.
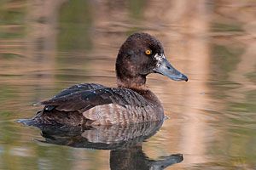
[{"label": "whole brown duck with yellow eye floating on the water", "polygon": [[52,99],[39,102],[44,109],[25,123],[87,127],[162,121],[163,106],[147,88],[146,77],[158,73],[174,81],[188,81],[166,59],[161,42],[145,32],[127,37],[119,48],[115,72],[116,88],[96,83],[73,85]]}]

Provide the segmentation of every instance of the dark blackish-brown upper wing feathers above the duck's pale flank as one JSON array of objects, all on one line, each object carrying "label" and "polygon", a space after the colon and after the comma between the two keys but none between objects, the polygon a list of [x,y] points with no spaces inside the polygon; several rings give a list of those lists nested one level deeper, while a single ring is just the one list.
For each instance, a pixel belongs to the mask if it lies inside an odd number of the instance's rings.
[{"label": "dark blackish-brown upper wing feathers above the duck's pale flank", "polygon": [[[67,90],[72,92],[67,94]],[[41,102],[45,109],[55,108],[58,111],[79,111],[83,113],[99,105],[115,104],[126,107],[127,105],[144,107],[148,105],[146,99],[137,92],[128,88],[90,88],[73,90],[67,88],[54,98]]]}]

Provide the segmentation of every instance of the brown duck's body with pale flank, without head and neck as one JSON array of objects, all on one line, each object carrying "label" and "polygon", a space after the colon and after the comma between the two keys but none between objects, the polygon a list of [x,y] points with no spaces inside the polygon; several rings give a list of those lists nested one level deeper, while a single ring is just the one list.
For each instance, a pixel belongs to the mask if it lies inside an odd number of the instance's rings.
[{"label": "brown duck's body with pale flank, without head and neck", "polygon": [[36,123],[90,126],[159,121],[164,117],[158,99],[149,90],[106,88],[79,84],[41,102]]}]

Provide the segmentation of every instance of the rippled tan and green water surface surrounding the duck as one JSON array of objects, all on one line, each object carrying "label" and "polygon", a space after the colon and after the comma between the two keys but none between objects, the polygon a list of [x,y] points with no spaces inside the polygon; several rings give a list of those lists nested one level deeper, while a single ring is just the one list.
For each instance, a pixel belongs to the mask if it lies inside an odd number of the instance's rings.
[{"label": "rippled tan and green water surface surrounding the duck", "polygon": [[[137,162],[183,155],[166,169],[256,169],[255,11],[253,0],[1,1],[0,169],[114,169],[130,151]],[[114,87],[116,54],[134,31],[158,37],[189,77],[148,77],[169,119],[134,152],[42,142],[15,122],[75,83]]]}]

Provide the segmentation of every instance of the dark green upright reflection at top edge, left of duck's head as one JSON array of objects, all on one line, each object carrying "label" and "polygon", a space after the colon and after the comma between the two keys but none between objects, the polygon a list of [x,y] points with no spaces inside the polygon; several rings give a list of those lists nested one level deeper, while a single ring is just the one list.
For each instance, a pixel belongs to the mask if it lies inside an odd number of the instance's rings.
[{"label": "dark green upright reflection at top edge, left of duck's head", "polygon": [[60,51],[84,51],[92,48],[92,14],[89,1],[73,0],[64,3],[59,13],[59,26],[57,42]]}]

